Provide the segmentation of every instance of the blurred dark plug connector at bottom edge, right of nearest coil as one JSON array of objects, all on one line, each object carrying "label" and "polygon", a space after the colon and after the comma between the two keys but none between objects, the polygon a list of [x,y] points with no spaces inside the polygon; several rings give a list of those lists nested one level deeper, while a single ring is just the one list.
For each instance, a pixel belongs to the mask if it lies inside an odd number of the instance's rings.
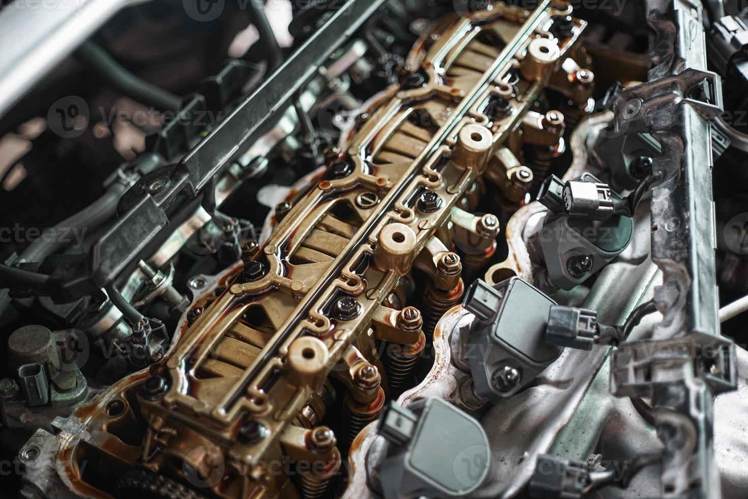
[{"label": "blurred dark plug connector at bottom edge, right of nearest coil", "polygon": [[530,479],[533,499],[580,499],[589,485],[586,463],[557,456],[538,456],[535,473]]}]

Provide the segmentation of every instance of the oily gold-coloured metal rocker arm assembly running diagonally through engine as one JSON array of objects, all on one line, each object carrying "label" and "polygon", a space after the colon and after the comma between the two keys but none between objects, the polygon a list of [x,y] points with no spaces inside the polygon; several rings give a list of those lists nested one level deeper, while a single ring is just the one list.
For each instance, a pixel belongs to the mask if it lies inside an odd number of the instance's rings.
[{"label": "oily gold-coloured metal rocker arm assembly running diagonally through engine", "polygon": [[[432,332],[462,297],[459,233],[475,235],[484,258],[495,251],[497,218],[460,218],[465,212],[455,211],[482,185],[494,153],[508,147],[518,154],[523,140],[550,141],[549,135],[562,133],[541,121],[540,130],[524,124],[584,27],[577,20],[573,36],[556,43],[544,30],[557,12],[549,0],[534,11],[497,2],[492,10],[439,23],[434,43],[427,50],[417,44],[408,56],[426,85],[393,90],[349,136],[337,160],[349,162],[352,173],[317,180],[305,195],[295,195],[269,239],[245,248],[245,258],[263,262],[266,274],[256,281],[233,278],[215,301],[199,304],[203,312],[185,325],[156,370],[168,380],[164,396],[135,395],[146,376],[102,396],[138,400],[147,425],[142,444],[135,450],[105,444],[98,436],[107,432],[105,419],[79,414],[96,435],[88,445],[98,442],[100,453],[177,477],[187,456],[200,459],[190,454],[196,447],[209,446],[227,465],[209,494],[292,497],[289,477],[270,472],[268,463],[283,456],[310,459],[307,432],[317,430],[300,425],[318,424],[324,415],[328,379],[346,387],[343,440],[350,443],[386,399],[372,343],[402,345],[400,367],[407,374],[423,351],[422,330]],[[523,78],[507,85],[506,75],[518,69]],[[491,119],[485,108],[497,96],[509,98],[511,112]],[[499,161],[506,157],[501,153]],[[509,171],[523,167],[504,166],[491,177],[511,184]],[[423,192],[438,195],[438,203],[419,209]],[[392,307],[393,300],[405,305],[402,285],[412,281],[414,267],[428,276],[416,296],[423,299],[423,316],[412,307]],[[64,456],[75,445],[65,447]],[[325,489],[340,465],[336,452],[322,452],[328,466],[299,485],[304,495]],[[91,495],[90,487],[85,494]]]}]

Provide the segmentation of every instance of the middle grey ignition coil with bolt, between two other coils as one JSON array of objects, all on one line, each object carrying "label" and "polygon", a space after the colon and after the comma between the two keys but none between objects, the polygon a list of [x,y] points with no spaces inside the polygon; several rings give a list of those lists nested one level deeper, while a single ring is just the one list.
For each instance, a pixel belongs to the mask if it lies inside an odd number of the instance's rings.
[{"label": "middle grey ignition coil with bolt, between two other coils", "polygon": [[520,278],[488,286],[470,284],[462,306],[476,316],[463,364],[475,392],[489,402],[511,397],[555,361],[560,349],[545,342],[550,307],[556,302]]}]

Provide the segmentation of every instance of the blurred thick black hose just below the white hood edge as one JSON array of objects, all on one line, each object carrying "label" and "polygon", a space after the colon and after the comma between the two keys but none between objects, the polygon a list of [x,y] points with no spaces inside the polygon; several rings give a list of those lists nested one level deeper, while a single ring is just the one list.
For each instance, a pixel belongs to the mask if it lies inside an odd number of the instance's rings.
[{"label": "blurred thick black hose just below the white hood edge", "polygon": [[117,91],[141,104],[153,106],[160,111],[179,111],[182,108],[182,99],[179,96],[130,73],[91,40],[83,43],[76,52],[76,57]]}]

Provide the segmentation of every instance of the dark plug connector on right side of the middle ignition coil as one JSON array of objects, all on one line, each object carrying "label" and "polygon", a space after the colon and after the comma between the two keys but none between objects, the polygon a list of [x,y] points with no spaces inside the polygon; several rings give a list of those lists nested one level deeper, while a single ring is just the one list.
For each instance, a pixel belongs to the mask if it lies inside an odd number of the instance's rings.
[{"label": "dark plug connector on right side of the middle ignition coil", "polygon": [[597,313],[593,310],[553,305],[548,312],[545,341],[551,345],[592,350],[597,335]]}]

